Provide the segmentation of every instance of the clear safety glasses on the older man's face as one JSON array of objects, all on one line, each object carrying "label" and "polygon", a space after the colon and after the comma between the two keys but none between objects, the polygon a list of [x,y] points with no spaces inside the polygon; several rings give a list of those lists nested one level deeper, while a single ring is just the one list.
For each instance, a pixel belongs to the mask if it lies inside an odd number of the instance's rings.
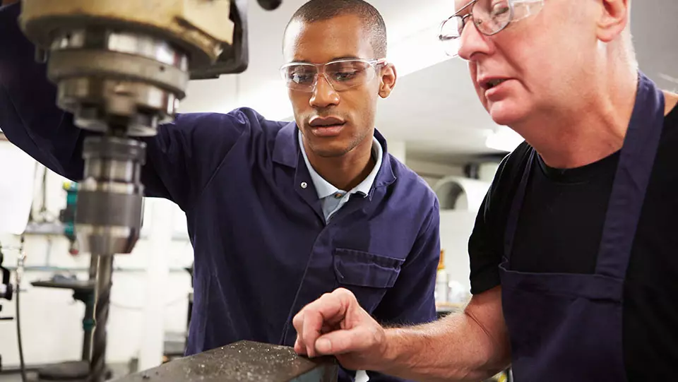
[{"label": "clear safety glasses on the older man's face", "polygon": [[440,25],[438,40],[449,56],[458,56],[461,32],[471,20],[483,35],[496,35],[513,23],[538,13],[544,0],[473,0]]}]

